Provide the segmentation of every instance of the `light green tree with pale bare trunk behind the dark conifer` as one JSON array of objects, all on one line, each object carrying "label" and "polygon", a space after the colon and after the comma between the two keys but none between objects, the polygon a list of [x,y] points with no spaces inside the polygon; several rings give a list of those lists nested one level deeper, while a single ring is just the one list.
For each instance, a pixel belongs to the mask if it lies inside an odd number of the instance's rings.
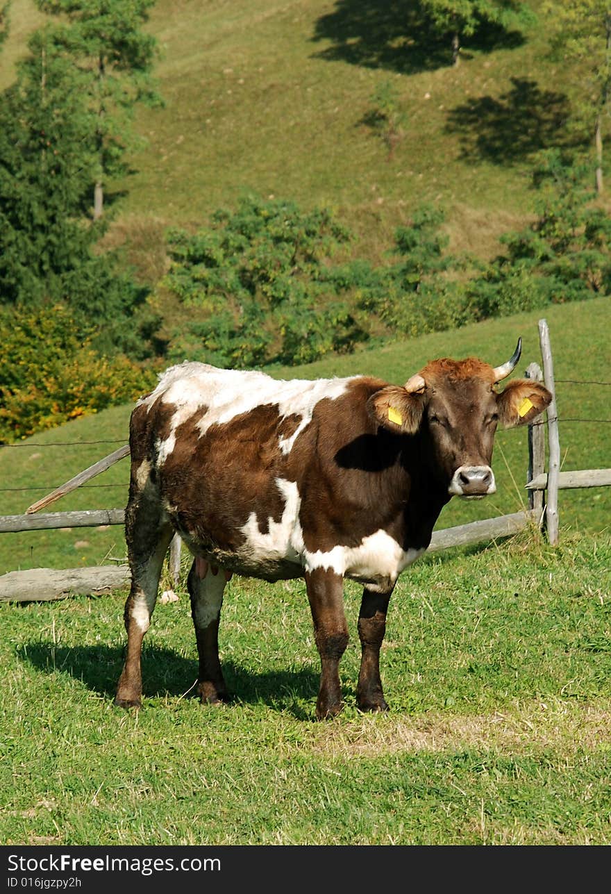
[{"label": "light green tree with pale bare trunk behind the dark conifer", "polygon": [[38,9],[61,21],[49,30],[54,46],[79,73],[89,111],[95,116],[96,156],[93,218],[104,211],[105,182],[126,173],[126,150],[138,102],[161,101],[152,79],[156,40],[141,30],[155,0],[36,0]]}]

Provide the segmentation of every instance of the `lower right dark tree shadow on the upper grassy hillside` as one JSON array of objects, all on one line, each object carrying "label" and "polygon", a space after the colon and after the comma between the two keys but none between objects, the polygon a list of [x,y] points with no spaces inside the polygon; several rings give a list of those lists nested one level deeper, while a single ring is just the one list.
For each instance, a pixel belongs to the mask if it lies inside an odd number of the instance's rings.
[{"label": "lower right dark tree shadow on the upper grassy hillside", "polygon": [[514,164],[540,149],[574,145],[564,93],[541,90],[528,78],[512,78],[511,85],[498,99],[473,97],[448,114],[446,131],[459,135],[466,161]]}]

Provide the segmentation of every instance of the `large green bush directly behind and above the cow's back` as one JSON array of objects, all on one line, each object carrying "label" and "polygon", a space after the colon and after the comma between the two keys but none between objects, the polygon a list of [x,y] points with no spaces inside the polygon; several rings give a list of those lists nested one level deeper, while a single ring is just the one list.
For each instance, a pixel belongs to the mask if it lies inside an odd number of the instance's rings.
[{"label": "large green bush directly behind and above the cow's back", "polygon": [[304,363],[367,338],[340,293],[354,277],[334,277],[329,259],[349,240],[326,209],[301,212],[280,199],[242,198],[209,228],[169,233],[172,267],[163,280],[192,312],[172,333],[172,361],[222,367]]}]

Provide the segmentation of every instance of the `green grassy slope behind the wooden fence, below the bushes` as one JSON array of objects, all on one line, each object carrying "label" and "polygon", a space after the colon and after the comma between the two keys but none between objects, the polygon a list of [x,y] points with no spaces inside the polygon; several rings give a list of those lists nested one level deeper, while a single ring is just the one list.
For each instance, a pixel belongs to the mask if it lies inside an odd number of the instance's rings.
[{"label": "green grassy slope behind the wooden fence, below the bushes", "polygon": [[[545,318],[557,379],[562,468],[609,468],[611,376],[607,333],[611,327],[611,304],[608,299],[600,298],[555,306],[548,308]],[[400,384],[427,360],[436,357],[462,358],[474,354],[496,366],[511,355],[519,335],[523,337],[523,357],[518,369],[523,371],[532,361],[541,362],[539,319],[537,312],[523,313],[465,326],[457,332],[432,333],[408,342],[389,343],[376,350],[359,351],[349,357],[329,358],[309,367],[277,368],[271,372],[278,378],[364,373]],[[607,384],[578,384],[581,382]],[[0,448],[0,514],[25,511],[55,485],[126,443],[129,416],[130,407],[116,407],[36,434],[13,447]],[[63,446],[64,443],[71,446]],[[475,504],[453,500],[443,510],[437,527],[520,510],[526,505],[523,485],[527,457],[525,428],[499,431],[493,460],[498,493]],[[121,460],[49,510],[122,508],[127,501],[128,476],[129,460]],[[608,528],[611,489],[563,491],[559,502],[560,522],[565,530],[598,533]],[[17,568],[71,568],[124,555],[121,527],[0,536],[0,573]]]}]

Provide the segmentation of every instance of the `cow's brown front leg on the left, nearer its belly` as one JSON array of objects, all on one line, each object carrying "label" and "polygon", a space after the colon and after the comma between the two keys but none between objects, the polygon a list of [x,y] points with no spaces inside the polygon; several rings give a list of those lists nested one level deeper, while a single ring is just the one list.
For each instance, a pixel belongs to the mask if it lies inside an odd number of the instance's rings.
[{"label": "cow's brown front leg on the left, nearer its belly", "polygon": [[321,656],[321,687],[316,700],[316,719],[341,711],[339,660],[346,651],[348,634],[344,614],[344,582],[335,571],[306,571],[307,597],[314,620],[314,640]]}]

